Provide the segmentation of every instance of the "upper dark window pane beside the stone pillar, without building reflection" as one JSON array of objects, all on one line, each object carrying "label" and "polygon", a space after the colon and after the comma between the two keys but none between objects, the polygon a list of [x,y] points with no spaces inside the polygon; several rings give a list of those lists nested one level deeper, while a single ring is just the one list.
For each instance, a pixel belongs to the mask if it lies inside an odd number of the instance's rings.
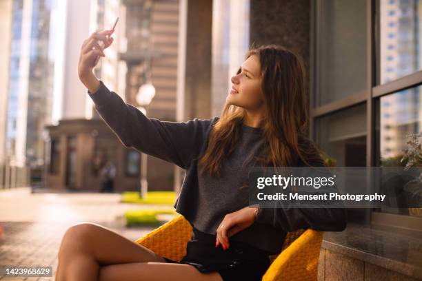
[{"label": "upper dark window pane beside the stone pillar, without building reflection", "polygon": [[365,0],[318,1],[314,106],[366,89],[366,10]]}]

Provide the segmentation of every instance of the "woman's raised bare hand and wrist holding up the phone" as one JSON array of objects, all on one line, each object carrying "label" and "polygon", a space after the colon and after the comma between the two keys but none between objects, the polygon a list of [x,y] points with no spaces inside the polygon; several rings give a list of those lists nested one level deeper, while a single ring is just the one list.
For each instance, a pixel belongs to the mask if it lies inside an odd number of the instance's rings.
[{"label": "woman's raised bare hand and wrist holding up the phone", "polygon": [[96,92],[99,87],[99,81],[92,70],[97,65],[99,56],[106,56],[103,50],[112,44],[113,38],[110,37],[112,33],[113,30],[94,32],[83,41],[81,46],[78,65],[79,79],[91,93]]}]

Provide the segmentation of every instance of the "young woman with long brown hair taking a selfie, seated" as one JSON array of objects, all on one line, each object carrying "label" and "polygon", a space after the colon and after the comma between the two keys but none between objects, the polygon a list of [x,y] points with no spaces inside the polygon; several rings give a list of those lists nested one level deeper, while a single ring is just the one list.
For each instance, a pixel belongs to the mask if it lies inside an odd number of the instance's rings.
[{"label": "young woman with long brown hair taking a selfie, seated", "polygon": [[343,209],[259,209],[243,188],[254,165],[322,166],[305,138],[307,110],[303,63],[270,45],[248,52],[221,118],[186,123],[147,118],[92,73],[112,44],[97,32],[81,48],[79,78],[101,117],[127,147],[186,170],[174,207],[192,225],[187,254],[174,262],[93,223],[66,231],[57,280],[261,280],[268,255],[279,253],[287,231],[341,231]]}]

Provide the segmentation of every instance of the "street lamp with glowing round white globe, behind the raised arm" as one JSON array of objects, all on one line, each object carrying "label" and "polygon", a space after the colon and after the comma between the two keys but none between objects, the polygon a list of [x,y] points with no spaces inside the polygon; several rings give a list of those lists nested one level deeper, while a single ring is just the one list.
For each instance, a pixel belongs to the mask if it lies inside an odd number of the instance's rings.
[{"label": "street lamp with glowing round white globe, behind the raised arm", "polygon": [[[155,96],[155,88],[152,83],[145,83],[139,87],[137,94],[137,103],[141,105],[139,110],[148,117],[148,105],[150,105],[152,98]],[[147,180],[147,163],[148,155],[141,152],[141,190],[139,192],[139,198],[146,198],[148,192],[148,180]]]}]

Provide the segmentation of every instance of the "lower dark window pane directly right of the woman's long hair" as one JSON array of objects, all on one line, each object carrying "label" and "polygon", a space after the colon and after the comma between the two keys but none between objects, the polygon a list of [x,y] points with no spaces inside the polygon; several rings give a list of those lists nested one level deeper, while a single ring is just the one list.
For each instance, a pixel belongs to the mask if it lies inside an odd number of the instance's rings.
[{"label": "lower dark window pane directly right of the woman's long hair", "polygon": [[336,166],[366,166],[366,106],[316,119],[316,143]]}]

